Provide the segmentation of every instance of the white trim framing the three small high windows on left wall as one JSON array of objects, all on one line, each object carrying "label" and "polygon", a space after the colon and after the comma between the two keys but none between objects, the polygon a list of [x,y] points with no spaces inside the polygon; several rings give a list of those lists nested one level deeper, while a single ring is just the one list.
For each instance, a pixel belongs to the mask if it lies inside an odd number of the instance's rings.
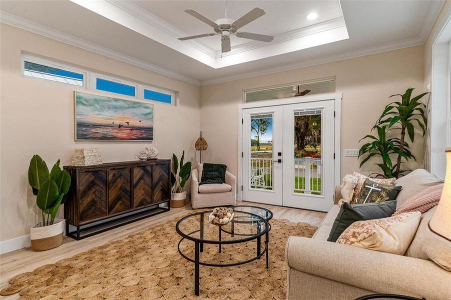
[{"label": "white trim framing the three small high windows on left wall", "polygon": [[[45,78],[32,77],[32,76],[25,75],[25,61],[38,63],[38,64],[42,64],[42,65],[45,65],[45,66],[55,67],[55,68],[59,68],[59,69],[62,69],[62,70],[83,74],[83,86],[70,84],[70,83],[65,83],[65,82],[53,81],[53,80],[49,80],[49,79],[45,79]],[[146,83],[140,83],[140,82],[137,82],[137,81],[124,79],[122,77],[106,75],[106,74],[95,72],[95,71],[92,71],[92,70],[89,70],[89,69],[82,69],[82,68],[79,68],[79,67],[74,67],[74,66],[69,65],[69,64],[55,62],[55,61],[50,60],[50,59],[45,59],[45,58],[41,58],[41,57],[37,57],[37,56],[25,54],[25,53],[22,53],[22,55],[21,55],[21,74],[22,74],[22,77],[26,77],[26,78],[34,78],[34,79],[45,80],[45,81],[48,81],[48,82],[50,81],[50,82],[55,82],[55,83],[60,83],[60,84],[65,84],[65,85],[71,85],[71,86],[75,86],[75,87],[78,87],[78,88],[86,88],[86,89],[89,89],[89,90],[100,91],[102,93],[109,93],[109,94],[112,94],[112,95],[122,95],[122,96],[126,96],[126,97],[139,99],[139,100],[142,100],[142,101],[145,101],[145,102],[155,102],[155,103],[160,103],[160,104],[165,104],[165,105],[179,106],[179,101],[180,101],[180,99],[179,99],[179,92],[175,91],[175,90],[166,89],[166,88],[162,88],[162,87],[157,87],[155,85],[150,85],[150,84],[146,84]],[[121,93],[117,93],[117,92],[97,89],[97,78],[101,78],[101,79],[105,79],[105,80],[109,80],[109,81],[113,81],[113,82],[118,82],[118,83],[134,86],[135,87],[135,95],[134,96],[130,96],[130,95],[125,95],[125,94],[121,94]],[[144,89],[148,89],[148,90],[152,90],[152,91],[161,92],[161,93],[165,93],[165,94],[171,95],[171,103],[166,103],[166,102],[161,102],[161,101],[157,101],[157,100],[146,99],[144,97]]]}]

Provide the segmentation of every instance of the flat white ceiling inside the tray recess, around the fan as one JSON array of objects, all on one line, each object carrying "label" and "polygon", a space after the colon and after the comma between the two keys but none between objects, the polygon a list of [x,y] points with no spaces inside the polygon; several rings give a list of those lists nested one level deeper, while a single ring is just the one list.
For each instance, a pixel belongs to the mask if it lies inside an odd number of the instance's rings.
[{"label": "flat white ceiling inside the tray recess, around the fan", "polygon": [[[213,31],[207,24],[184,12],[184,9],[195,9],[213,21],[225,16],[225,1],[172,0],[170,2],[171,13],[168,13],[169,5],[167,1],[132,0],[132,2],[158,18],[165,20],[187,35],[209,33]],[[254,7],[263,8],[266,14],[247,24],[243,27],[243,30],[240,31],[276,35],[342,16],[338,0],[285,0],[283,2],[230,0],[227,1],[227,17],[238,19]],[[318,13],[318,18],[315,20],[307,20],[305,16],[310,12]],[[200,39],[200,41],[216,51],[221,48],[218,36],[205,37]],[[249,39],[231,36],[232,47],[249,41]]]}]

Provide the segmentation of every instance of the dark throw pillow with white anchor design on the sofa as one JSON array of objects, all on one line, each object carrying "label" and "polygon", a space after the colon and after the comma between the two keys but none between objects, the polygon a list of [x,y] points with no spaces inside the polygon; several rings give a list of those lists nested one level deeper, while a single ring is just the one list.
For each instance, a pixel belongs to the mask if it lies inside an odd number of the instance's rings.
[{"label": "dark throw pillow with white anchor design on the sofa", "polygon": [[400,190],[399,185],[377,183],[367,178],[355,199],[355,204],[395,200]]}]

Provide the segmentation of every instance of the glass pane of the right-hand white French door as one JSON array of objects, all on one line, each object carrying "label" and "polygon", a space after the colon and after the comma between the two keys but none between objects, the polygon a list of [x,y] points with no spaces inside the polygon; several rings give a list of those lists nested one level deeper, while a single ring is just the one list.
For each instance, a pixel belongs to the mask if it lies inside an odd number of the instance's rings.
[{"label": "glass pane of the right-hand white French door", "polygon": [[294,192],[320,195],[321,110],[294,112]]}]

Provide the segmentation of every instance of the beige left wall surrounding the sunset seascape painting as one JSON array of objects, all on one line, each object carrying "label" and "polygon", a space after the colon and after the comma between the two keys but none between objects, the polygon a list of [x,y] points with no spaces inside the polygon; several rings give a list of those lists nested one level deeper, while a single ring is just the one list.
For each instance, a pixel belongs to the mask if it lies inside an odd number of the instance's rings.
[{"label": "beige left wall surrounding the sunset seascape painting", "polygon": [[[194,157],[193,144],[199,134],[198,86],[9,25],[0,25],[0,31],[1,241],[29,234],[29,227],[38,221],[35,197],[27,180],[30,158],[35,153],[49,166],[58,158],[69,164],[75,147],[98,147],[106,162],[133,160],[145,146],[159,149],[161,158],[170,158],[183,149],[188,157]],[[155,103],[153,143],[75,142],[74,86],[22,77],[21,51],[178,90],[180,106]]]}]

